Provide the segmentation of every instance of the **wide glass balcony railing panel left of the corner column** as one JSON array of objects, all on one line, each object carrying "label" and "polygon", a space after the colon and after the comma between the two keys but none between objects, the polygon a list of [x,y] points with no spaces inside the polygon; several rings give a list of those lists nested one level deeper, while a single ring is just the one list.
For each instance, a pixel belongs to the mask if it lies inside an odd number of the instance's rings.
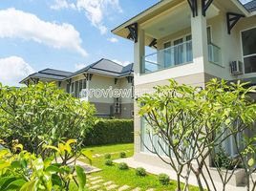
[{"label": "wide glass balcony railing panel left of the corner column", "polygon": [[151,53],[142,58],[142,74],[157,72],[193,61],[192,41]]}]

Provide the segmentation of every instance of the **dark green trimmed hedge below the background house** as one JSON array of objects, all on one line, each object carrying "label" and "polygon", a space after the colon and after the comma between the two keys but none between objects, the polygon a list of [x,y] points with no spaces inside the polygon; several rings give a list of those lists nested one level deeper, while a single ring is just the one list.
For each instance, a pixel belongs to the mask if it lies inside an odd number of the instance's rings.
[{"label": "dark green trimmed hedge below the background house", "polygon": [[131,119],[100,119],[83,141],[85,146],[131,142],[134,142]]}]

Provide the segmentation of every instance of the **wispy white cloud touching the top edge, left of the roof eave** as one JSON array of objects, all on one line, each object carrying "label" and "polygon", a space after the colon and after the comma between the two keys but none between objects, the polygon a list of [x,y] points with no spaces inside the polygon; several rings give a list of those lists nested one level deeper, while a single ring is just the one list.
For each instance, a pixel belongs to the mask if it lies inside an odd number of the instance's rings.
[{"label": "wispy white cloud touching the top edge, left of the roof eave", "polygon": [[107,32],[103,17],[108,14],[108,11],[122,11],[118,0],[77,0],[76,7],[79,11],[85,11],[92,25],[102,34]]}]

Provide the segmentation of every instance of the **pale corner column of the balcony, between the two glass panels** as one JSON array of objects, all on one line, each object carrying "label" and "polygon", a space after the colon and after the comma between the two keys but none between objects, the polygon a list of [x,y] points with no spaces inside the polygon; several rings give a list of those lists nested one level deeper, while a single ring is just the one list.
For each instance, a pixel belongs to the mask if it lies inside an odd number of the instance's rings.
[{"label": "pale corner column of the balcony, between the two glass panels", "polygon": [[205,64],[208,62],[207,30],[202,4],[198,6],[198,16],[191,15],[192,48],[193,61],[198,67],[199,73],[203,73]]}]

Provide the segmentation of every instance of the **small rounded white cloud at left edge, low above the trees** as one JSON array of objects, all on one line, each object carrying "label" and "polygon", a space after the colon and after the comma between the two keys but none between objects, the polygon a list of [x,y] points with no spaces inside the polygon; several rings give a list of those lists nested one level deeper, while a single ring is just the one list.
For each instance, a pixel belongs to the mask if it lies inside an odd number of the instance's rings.
[{"label": "small rounded white cloud at left edge, low above the trees", "polygon": [[19,86],[19,81],[34,73],[32,67],[18,56],[0,58],[0,82],[4,85]]}]

